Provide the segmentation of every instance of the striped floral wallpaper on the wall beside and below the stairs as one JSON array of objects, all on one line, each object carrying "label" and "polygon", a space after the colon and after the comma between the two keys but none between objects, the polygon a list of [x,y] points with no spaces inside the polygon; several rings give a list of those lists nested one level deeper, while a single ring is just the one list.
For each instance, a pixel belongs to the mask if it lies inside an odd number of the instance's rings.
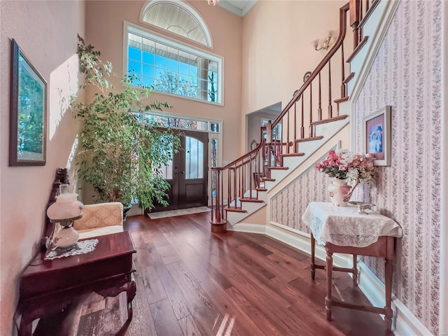
[{"label": "striped floral wallpaper on the wall beside and below the stairs", "polygon": [[[355,104],[353,151],[363,151],[363,118],[392,106],[391,167],[353,199],[377,204],[403,229],[393,294],[438,335],[440,284],[440,154],[442,3],[402,1]],[[274,196],[272,221],[309,232],[297,217],[308,202],[328,201],[328,181],[314,169]],[[384,261],[363,258],[384,279]]]}]

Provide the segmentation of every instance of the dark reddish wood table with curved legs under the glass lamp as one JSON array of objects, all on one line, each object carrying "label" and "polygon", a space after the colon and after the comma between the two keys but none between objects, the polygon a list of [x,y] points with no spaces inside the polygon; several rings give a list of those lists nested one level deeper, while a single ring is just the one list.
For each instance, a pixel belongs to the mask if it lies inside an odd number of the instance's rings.
[{"label": "dark reddish wood table with curved legs under the glass lamp", "polygon": [[132,254],[137,251],[130,233],[94,239],[98,244],[90,253],[45,260],[41,252],[31,261],[20,278],[19,335],[31,335],[36,318],[61,311],[74,297],[92,292],[113,297],[126,291],[127,321],[131,320],[136,293]]}]

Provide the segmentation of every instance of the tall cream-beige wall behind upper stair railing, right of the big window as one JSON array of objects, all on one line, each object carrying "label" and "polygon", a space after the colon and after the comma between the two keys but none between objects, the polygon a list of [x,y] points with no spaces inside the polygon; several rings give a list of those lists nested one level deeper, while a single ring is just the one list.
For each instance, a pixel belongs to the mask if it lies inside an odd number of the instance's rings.
[{"label": "tall cream-beige wall behind upper stair railing, right of the big window", "polygon": [[325,55],[311,41],[339,31],[346,1],[258,1],[243,19],[241,109],[244,115],[282,102]]}]

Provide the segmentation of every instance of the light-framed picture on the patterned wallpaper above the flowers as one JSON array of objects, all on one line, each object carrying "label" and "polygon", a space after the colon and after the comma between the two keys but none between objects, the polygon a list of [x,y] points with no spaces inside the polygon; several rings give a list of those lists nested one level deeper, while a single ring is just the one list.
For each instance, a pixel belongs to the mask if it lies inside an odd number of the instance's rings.
[{"label": "light-framed picture on the patterned wallpaper above the flowers", "polygon": [[375,166],[391,165],[391,106],[364,118],[364,151],[375,155]]}]

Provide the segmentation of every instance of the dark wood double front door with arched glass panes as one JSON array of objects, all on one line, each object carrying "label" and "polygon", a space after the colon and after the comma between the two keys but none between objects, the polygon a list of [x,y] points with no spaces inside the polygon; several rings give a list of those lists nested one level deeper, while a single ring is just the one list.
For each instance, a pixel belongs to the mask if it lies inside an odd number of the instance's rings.
[{"label": "dark wood double front door with arched glass panes", "polygon": [[181,148],[166,167],[165,178],[169,183],[168,207],[155,204],[156,211],[207,206],[208,142],[207,132],[176,131],[181,137]]}]

